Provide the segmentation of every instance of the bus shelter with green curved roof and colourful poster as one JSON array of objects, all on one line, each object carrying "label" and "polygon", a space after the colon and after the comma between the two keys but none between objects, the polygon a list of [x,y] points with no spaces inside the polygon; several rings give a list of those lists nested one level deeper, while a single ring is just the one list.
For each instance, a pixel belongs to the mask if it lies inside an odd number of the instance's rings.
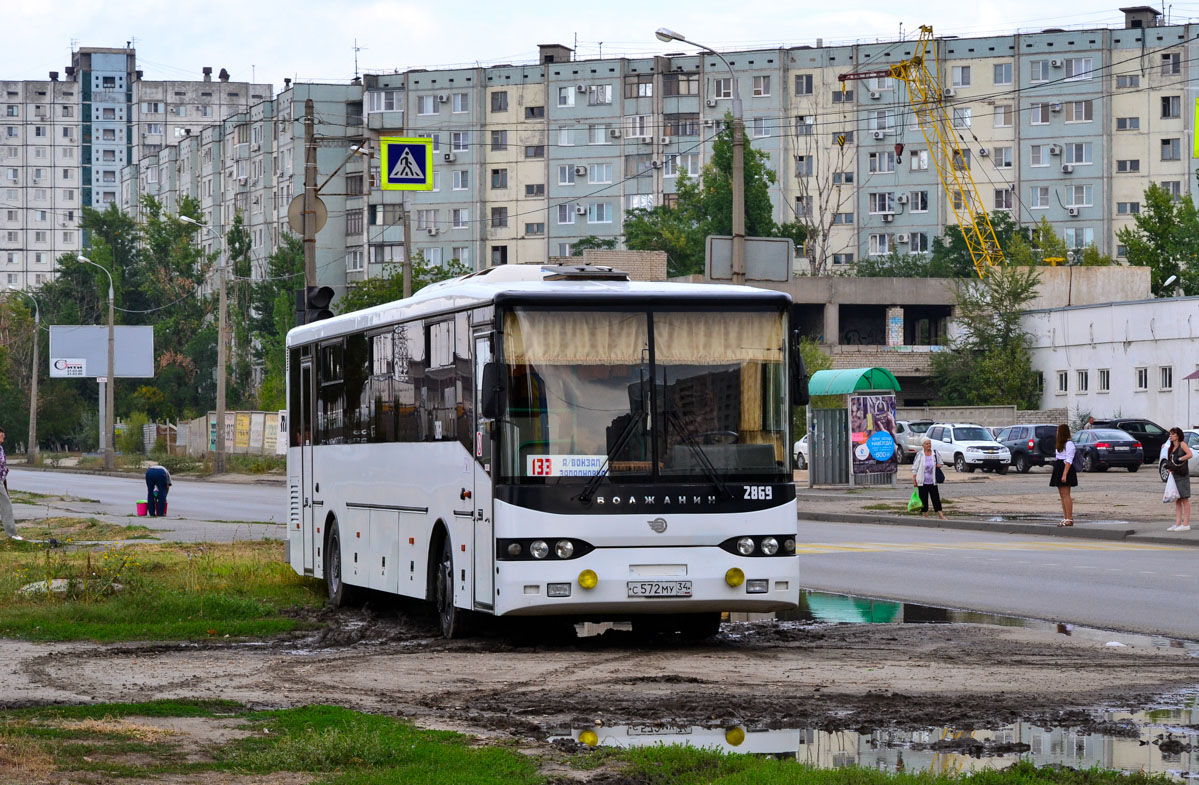
[{"label": "bus shelter with green curved roof and colourful poster", "polygon": [[[812,400],[839,395],[840,405],[808,404],[808,488],[891,485],[899,471],[896,393],[886,368],[818,370],[808,381]],[[827,400],[827,399],[825,399]]]}]

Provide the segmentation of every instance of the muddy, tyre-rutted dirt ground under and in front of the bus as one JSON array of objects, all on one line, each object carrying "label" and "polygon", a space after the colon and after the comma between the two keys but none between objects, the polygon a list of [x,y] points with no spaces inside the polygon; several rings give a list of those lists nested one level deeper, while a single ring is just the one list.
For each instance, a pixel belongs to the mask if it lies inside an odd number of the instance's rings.
[{"label": "muddy, tyre-rutted dirt ground under and in front of the bus", "polygon": [[1018,718],[1085,725],[1087,707],[1144,706],[1199,683],[1199,662],[1182,650],[988,626],[725,623],[691,645],[621,630],[446,641],[397,610],[320,620],[320,633],[253,644],[0,641],[0,705],[336,704],[519,736],[579,721],[966,730]]}]

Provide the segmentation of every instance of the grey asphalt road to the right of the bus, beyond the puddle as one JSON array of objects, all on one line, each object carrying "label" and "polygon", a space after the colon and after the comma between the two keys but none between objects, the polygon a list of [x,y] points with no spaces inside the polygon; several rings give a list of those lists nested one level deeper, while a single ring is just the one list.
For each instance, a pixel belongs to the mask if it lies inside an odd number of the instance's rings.
[{"label": "grey asphalt road to the right of the bus, beyond the puddle", "polygon": [[1193,547],[800,521],[800,585],[1199,640]]}]

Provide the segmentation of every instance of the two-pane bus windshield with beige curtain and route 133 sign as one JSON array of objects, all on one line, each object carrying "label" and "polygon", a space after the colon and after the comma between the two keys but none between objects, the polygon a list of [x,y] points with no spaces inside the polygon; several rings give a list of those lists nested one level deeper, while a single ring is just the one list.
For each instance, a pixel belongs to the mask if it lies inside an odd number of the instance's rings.
[{"label": "two-pane bus windshield with beige curtain and route 133 sign", "polygon": [[506,482],[787,479],[778,310],[554,310],[504,321]]}]

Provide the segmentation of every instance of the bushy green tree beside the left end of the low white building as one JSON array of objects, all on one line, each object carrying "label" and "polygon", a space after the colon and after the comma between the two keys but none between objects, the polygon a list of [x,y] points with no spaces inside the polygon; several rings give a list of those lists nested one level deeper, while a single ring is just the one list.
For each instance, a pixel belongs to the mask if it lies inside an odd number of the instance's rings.
[{"label": "bushy green tree beside the left end of the low white building", "polygon": [[1040,403],[1031,343],[1020,324],[1024,307],[1036,296],[1034,267],[1004,265],[981,279],[954,284],[958,334],[950,351],[933,355],[938,405],[1012,405]]}]

